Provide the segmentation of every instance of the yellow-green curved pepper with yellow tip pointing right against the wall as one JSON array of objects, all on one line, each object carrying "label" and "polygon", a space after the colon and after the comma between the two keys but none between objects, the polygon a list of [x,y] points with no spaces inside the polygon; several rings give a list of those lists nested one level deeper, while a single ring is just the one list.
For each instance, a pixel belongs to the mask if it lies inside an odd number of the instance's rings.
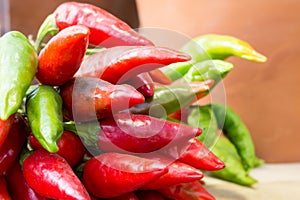
[{"label": "yellow-green curved pepper with yellow tip pointing right against the wall", "polygon": [[224,60],[230,56],[256,62],[267,60],[264,55],[254,50],[247,42],[232,36],[218,34],[198,36],[184,45],[181,51],[192,56],[192,60],[173,63],[160,68],[173,81],[182,78],[192,66],[204,60]]}]

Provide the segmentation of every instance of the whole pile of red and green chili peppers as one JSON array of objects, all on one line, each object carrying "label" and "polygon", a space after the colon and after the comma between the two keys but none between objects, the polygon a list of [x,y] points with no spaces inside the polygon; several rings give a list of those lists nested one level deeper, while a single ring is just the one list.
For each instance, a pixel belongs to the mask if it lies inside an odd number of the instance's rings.
[{"label": "whole pile of red and green chili peppers", "polygon": [[159,47],[86,3],[59,5],[35,41],[6,33],[0,198],[215,199],[206,172],[254,184],[263,161],[247,127],[224,105],[197,104],[233,69],[229,56],[266,60],[224,35]]}]

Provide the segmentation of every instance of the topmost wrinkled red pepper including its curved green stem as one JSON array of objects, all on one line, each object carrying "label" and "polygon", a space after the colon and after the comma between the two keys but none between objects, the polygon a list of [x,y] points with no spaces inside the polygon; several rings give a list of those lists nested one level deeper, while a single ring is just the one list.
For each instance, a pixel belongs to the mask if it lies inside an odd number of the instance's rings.
[{"label": "topmost wrinkled red pepper including its curved green stem", "polygon": [[41,25],[36,47],[39,47],[48,33],[55,34],[72,25],[88,27],[91,30],[89,41],[96,46],[154,45],[124,21],[104,9],[87,3],[65,2],[60,4]]}]

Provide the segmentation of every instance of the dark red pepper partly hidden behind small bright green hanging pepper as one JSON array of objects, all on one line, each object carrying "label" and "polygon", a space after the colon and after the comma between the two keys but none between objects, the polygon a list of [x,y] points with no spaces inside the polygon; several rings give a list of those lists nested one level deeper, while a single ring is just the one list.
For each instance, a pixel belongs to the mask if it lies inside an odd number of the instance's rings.
[{"label": "dark red pepper partly hidden behind small bright green hanging pepper", "polygon": [[[33,134],[30,134],[28,141],[32,148],[44,149]],[[71,167],[76,166],[82,160],[86,151],[81,139],[67,130],[63,132],[61,138],[57,142],[57,146],[59,150],[56,153],[66,159]]]}]

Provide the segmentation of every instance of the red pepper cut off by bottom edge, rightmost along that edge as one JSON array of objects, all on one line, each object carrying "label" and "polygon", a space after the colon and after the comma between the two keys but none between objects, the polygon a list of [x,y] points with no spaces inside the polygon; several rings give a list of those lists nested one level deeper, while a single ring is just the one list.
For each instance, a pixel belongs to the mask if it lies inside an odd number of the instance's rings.
[{"label": "red pepper cut off by bottom edge, rightmost along that edge", "polygon": [[181,183],[159,190],[163,195],[176,200],[215,200],[199,181]]}]

